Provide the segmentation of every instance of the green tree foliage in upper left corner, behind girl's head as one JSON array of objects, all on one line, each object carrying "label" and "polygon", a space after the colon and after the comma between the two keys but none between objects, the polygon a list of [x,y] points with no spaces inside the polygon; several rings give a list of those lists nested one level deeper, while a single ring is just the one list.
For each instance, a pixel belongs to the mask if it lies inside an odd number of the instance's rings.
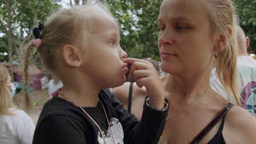
[{"label": "green tree foliage in upper left corner, behind girl's head", "polygon": [[[30,29],[42,22],[51,13],[60,7],[60,0],[0,0],[0,52],[8,52],[8,31],[11,31],[13,55],[24,56],[24,45],[32,39]],[[10,2],[11,27],[8,28],[8,7]],[[0,55],[0,57],[3,57]],[[5,61],[8,59],[4,59]],[[4,61],[0,58],[0,61]]]}]

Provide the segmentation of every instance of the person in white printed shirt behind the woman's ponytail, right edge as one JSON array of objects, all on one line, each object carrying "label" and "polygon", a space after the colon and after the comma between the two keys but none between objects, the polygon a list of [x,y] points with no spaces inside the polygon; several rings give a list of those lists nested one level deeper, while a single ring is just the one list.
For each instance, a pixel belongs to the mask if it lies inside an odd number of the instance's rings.
[{"label": "person in white printed shirt behind the woman's ponytail, right edge", "polygon": [[[237,89],[241,95],[241,104],[254,117],[256,117],[256,61],[247,53],[249,47],[249,37],[246,37],[245,32],[241,27],[237,26]],[[224,98],[228,99],[228,94],[222,83],[216,75],[216,70],[212,70],[211,87]],[[231,97],[233,98],[233,97]],[[234,104],[235,100],[230,99]]]}]

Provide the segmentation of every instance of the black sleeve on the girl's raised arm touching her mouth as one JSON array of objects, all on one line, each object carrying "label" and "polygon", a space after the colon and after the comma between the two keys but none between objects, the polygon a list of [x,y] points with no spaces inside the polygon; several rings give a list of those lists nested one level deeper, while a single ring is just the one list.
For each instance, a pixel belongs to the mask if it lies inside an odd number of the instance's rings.
[{"label": "black sleeve on the girl's raised arm touching her mouth", "polygon": [[165,127],[168,109],[164,111],[152,109],[146,105],[145,99],[142,118],[138,121],[134,115],[128,113],[114,93],[109,93],[109,96],[124,130],[124,143],[158,143]]}]

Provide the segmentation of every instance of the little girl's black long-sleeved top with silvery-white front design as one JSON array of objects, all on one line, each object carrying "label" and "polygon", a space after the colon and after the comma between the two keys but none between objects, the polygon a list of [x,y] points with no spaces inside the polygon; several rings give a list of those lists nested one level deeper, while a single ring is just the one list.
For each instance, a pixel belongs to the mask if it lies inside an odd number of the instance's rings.
[{"label": "little girl's black long-sleeved top with silvery-white front design", "polygon": [[[157,111],[146,104],[141,121],[129,114],[113,93],[100,91],[115,143],[158,143],[165,127],[168,109]],[[107,143],[113,143],[101,104],[83,109],[100,126]],[[123,129],[122,129],[123,128]],[[33,144],[40,143],[103,143],[100,132],[91,119],[73,103],[57,97],[47,101],[40,113]]]}]

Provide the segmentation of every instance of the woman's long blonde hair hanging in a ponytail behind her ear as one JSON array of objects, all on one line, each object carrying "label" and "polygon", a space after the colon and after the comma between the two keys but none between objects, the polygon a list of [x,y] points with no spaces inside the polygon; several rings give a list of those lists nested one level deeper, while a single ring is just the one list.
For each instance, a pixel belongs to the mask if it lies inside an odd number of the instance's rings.
[{"label": "woman's long blonde hair hanging in a ponytail behind her ear", "polygon": [[[241,105],[240,95],[237,91],[237,39],[236,26],[238,18],[231,0],[206,0],[210,14],[211,27],[214,31],[221,33],[225,39],[226,47],[218,53],[214,62],[217,75],[223,87],[231,97],[230,91],[234,94],[237,105]],[[229,29],[232,30],[231,35]]]}]

